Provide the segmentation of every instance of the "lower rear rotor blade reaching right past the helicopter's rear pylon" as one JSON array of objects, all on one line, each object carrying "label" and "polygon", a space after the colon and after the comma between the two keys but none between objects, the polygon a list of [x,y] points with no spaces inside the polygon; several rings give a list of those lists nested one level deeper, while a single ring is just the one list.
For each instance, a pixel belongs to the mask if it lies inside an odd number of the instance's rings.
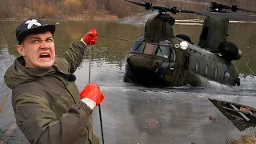
[{"label": "lower rear rotor blade reaching right past the helicopter's rear pylon", "polygon": [[218,17],[218,18],[242,18],[248,20],[256,20],[256,15],[243,15],[243,14],[229,14],[229,13],[217,13],[217,12],[204,12],[204,11],[195,11],[195,14]]}]

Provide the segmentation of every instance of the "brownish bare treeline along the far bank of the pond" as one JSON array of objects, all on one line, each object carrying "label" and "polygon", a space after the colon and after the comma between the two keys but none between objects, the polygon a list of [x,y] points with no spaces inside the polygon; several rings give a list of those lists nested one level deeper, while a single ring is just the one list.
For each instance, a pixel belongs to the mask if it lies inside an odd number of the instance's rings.
[{"label": "brownish bare treeline along the far bank of the pond", "polygon": [[[186,10],[209,10],[202,2],[210,0],[133,0],[152,2],[154,6],[177,6]],[[238,5],[245,9],[256,10],[256,0],[213,0],[227,5]],[[92,12],[105,11],[122,18],[142,12],[141,6],[135,6],[123,0],[0,0],[0,19],[6,18],[67,18]],[[91,13],[94,14],[94,13]],[[198,18],[193,14],[177,14],[177,18]]]}]

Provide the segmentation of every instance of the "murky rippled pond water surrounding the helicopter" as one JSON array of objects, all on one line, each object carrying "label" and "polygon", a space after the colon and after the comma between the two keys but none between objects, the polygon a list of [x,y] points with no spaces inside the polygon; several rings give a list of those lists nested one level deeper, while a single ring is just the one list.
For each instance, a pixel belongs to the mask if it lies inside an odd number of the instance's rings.
[{"label": "murky rippled pond water surrounding the helicopter", "polygon": [[[57,21],[56,21],[57,22]],[[55,23],[55,22],[50,22]],[[57,54],[63,54],[70,43],[92,28],[98,34],[115,38],[136,39],[144,28],[118,25],[115,22],[58,21],[54,41]],[[19,22],[0,23],[0,70],[18,57],[14,29]],[[256,24],[231,23],[230,39],[242,50],[242,58],[234,62],[242,73],[242,86],[234,91],[166,88],[154,89],[122,82],[126,56],[133,42],[98,37],[92,47],[91,82],[98,83],[105,95],[102,120],[106,143],[225,143],[230,138],[255,134],[255,128],[238,130],[209,100],[214,97],[255,106],[256,91],[253,74],[256,68]],[[200,25],[176,25],[174,34],[187,34],[198,42]],[[88,51],[75,72],[78,89],[88,82]],[[248,68],[250,67],[250,69]],[[1,83],[3,78],[0,78]],[[0,84],[1,84],[0,83]],[[15,121],[13,113],[1,118],[1,130]],[[210,117],[212,116],[212,117]],[[213,121],[214,119],[214,121]],[[98,109],[93,113],[94,131],[101,138]],[[20,131],[12,133],[21,134]],[[10,135],[12,135],[10,134]],[[0,142],[2,137],[0,136]]]}]

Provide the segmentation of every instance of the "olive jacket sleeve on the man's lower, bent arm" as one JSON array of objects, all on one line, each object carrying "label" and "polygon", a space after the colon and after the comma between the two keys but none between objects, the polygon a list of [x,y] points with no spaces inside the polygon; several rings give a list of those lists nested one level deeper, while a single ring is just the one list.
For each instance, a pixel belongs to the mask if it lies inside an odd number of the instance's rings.
[{"label": "olive jacket sleeve on the man's lower, bent arm", "polygon": [[89,115],[92,110],[83,102],[73,105],[62,118],[50,109],[50,102],[38,94],[22,94],[14,102],[18,127],[31,144],[72,143],[88,138]]}]

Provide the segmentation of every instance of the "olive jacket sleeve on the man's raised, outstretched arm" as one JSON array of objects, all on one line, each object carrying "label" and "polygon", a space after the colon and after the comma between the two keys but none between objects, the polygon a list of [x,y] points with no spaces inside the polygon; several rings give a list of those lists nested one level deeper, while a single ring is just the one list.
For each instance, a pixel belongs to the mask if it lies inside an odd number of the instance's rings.
[{"label": "olive jacket sleeve on the man's raised, outstretched arm", "polygon": [[65,54],[56,60],[55,64],[58,66],[58,69],[73,74],[82,62],[85,50],[86,45],[83,42],[75,42],[70,45],[70,49]]}]

